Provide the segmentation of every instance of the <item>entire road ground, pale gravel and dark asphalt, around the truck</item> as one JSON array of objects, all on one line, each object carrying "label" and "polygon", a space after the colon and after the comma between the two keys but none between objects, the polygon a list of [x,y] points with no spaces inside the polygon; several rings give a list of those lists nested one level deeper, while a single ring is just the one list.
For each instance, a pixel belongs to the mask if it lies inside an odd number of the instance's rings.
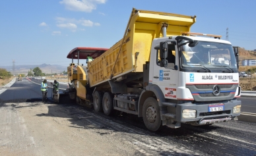
[{"label": "entire road ground, pale gravel and dark asphalt, around the truck", "polygon": [[24,79],[0,98],[0,155],[256,155],[255,123],[150,132],[135,115],[108,117],[67,99],[41,103],[38,84]]}]

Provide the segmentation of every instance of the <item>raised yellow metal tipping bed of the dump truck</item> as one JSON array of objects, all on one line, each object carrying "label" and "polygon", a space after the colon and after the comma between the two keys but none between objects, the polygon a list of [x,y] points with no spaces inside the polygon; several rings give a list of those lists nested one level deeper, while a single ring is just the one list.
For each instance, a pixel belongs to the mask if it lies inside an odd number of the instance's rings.
[{"label": "raised yellow metal tipping bed of the dump truck", "polygon": [[181,32],[190,32],[195,16],[133,9],[123,39],[88,65],[90,86],[129,72],[143,72],[152,40],[163,36],[164,23],[168,24],[166,36],[179,36]]}]

